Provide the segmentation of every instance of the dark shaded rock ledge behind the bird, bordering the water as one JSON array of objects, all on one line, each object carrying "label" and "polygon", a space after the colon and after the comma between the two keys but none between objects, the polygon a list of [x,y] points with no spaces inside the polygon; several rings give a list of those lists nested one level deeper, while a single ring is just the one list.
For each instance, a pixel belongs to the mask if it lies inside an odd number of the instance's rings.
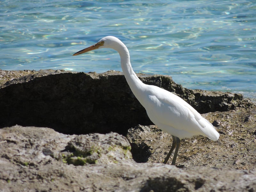
[{"label": "dark shaded rock ledge behind the bird, bordering the water", "polygon": [[[174,92],[200,113],[253,106],[239,94],[186,89],[170,76],[138,76],[146,84]],[[118,71],[0,70],[0,79],[0,127],[19,124],[68,134],[112,131],[125,135],[137,124],[152,124]]]}]

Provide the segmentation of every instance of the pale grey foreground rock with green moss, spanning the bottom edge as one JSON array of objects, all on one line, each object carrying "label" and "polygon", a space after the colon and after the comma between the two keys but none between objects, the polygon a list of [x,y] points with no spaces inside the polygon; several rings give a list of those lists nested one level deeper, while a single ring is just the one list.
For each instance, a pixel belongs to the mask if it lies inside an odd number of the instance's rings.
[{"label": "pale grey foreground rock with green moss, spanning the bottom edge", "polygon": [[[127,139],[117,133],[64,135],[16,125],[0,135],[0,191],[256,190],[256,169],[135,163]],[[68,163],[68,156],[98,161],[81,166]]]}]

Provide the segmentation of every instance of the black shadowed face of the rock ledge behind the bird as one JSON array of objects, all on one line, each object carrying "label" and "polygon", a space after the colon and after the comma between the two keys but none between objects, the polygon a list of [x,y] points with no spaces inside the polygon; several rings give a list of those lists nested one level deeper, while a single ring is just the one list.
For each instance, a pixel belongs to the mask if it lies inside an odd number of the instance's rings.
[{"label": "black shadowed face of the rock ledge behind the bird", "polygon": [[124,76],[43,76],[0,89],[0,127],[49,127],[65,134],[118,132],[152,124]]}]

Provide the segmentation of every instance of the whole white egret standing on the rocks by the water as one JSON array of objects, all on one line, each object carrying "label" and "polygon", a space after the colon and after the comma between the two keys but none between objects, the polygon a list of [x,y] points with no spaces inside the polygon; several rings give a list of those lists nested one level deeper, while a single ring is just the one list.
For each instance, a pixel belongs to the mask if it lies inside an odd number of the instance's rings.
[{"label": "whole white egret standing on the rocks by the water", "polygon": [[219,139],[220,134],[212,124],[186,101],[162,88],[142,83],[132,69],[127,47],[118,38],[106,36],[100,39],[98,43],[78,51],[74,55],[98,48],[111,48],[119,53],[124,76],[133,94],[146,109],[150,120],[161,130],[172,135],[172,147],[164,159],[164,164],[167,163],[174,148],[176,148],[172,159],[172,165],[175,164],[182,138],[203,135],[214,141]]}]

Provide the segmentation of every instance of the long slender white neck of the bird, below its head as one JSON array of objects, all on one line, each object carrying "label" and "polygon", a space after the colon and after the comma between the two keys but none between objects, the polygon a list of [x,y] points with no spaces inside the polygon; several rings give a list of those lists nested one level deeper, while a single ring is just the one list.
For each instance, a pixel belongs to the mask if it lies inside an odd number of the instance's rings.
[{"label": "long slender white neck of the bird, below its head", "polygon": [[116,49],[120,55],[121,59],[121,67],[125,76],[125,79],[127,83],[129,84],[133,94],[135,97],[141,102],[141,92],[144,90],[145,84],[142,83],[139,79],[139,77],[135,74],[135,72],[132,69],[132,65],[130,62],[130,54],[127,49],[127,47],[122,43],[118,45],[118,48]]}]

